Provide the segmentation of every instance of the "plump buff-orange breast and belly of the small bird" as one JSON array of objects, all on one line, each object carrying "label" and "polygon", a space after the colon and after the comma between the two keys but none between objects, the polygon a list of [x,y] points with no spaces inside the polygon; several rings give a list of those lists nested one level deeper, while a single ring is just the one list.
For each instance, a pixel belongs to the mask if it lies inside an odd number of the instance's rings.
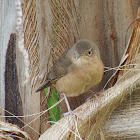
[{"label": "plump buff-orange breast and belly of the small bird", "polygon": [[56,88],[67,96],[78,96],[98,84],[103,76],[102,61],[72,65],[56,82]]}]

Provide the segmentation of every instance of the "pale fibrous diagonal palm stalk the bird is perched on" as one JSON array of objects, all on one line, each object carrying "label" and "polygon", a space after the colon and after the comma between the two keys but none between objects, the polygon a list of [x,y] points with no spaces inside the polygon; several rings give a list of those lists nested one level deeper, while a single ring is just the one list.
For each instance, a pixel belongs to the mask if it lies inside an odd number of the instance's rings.
[{"label": "pale fibrous diagonal palm stalk the bird is perched on", "polygon": [[[75,137],[79,137],[80,139],[98,140],[100,138],[100,133],[102,132],[101,127],[112,111],[120,105],[130,92],[138,87],[140,87],[140,73],[136,72],[135,74],[132,74],[131,77],[127,77],[123,82],[104,91],[103,96],[99,98],[100,102],[99,100],[92,99],[74,110],[74,113],[79,119],[68,115],[56,122],[55,125],[49,128],[40,137],[40,140],[73,140]],[[107,128],[109,127],[110,126]],[[106,132],[105,134],[107,133],[109,132]],[[118,133],[116,132],[114,135],[117,137]],[[137,137],[139,137],[139,133],[137,133]]]}]

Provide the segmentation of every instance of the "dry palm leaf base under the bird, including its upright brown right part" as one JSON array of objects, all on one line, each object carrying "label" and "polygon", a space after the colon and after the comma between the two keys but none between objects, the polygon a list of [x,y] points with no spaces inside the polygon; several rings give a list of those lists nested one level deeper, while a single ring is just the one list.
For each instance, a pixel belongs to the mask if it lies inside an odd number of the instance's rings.
[{"label": "dry palm leaf base under the bird, including its upright brown right part", "polygon": [[[140,9],[138,16],[140,15]],[[91,99],[74,110],[77,117],[68,115],[50,127],[39,140],[73,140],[75,138],[86,140],[104,139],[101,127],[112,111],[129,95],[140,87],[140,21],[135,22],[128,55],[123,67],[126,70],[119,72],[117,83],[103,92],[99,100]],[[134,65],[135,64],[135,65]],[[118,135],[115,133],[114,135]],[[139,135],[139,134],[138,134]],[[137,136],[138,136],[137,135]],[[131,134],[129,135],[131,136]],[[139,137],[139,136],[138,136]]]}]

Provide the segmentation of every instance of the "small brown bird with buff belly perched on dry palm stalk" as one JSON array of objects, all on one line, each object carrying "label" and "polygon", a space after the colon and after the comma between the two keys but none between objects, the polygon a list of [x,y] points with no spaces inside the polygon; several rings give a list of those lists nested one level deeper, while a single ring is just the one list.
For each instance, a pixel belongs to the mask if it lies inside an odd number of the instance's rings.
[{"label": "small brown bird with buff belly perched on dry palm stalk", "polygon": [[78,96],[97,85],[103,71],[98,47],[88,40],[80,40],[59,57],[36,92],[54,85],[68,97]]}]

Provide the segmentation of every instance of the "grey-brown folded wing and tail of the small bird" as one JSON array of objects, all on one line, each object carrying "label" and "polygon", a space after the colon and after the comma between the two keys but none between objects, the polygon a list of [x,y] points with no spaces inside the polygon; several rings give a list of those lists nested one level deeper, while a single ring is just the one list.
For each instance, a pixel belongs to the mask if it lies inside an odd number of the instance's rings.
[{"label": "grey-brown folded wing and tail of the small bird", "polygon": [[51,67],[46,81],[36,90],[36,92],[49,87],[56,80],[67,74],[69,67],[72,65],[71,59],[68,57],[68,50],[63,53],[59,59]]}]

